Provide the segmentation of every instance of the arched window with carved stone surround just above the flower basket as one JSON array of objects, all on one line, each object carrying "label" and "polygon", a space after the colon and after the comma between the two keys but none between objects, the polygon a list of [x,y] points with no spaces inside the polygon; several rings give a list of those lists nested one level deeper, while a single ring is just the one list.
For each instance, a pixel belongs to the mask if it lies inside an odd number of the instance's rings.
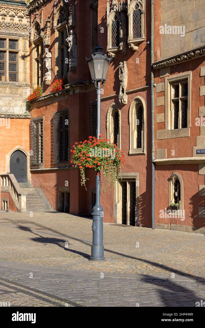
[{"label": "arched window with carved stone surround just above the flower basket", "polygon": [[116,103],[112,103],[106,115],[107,139],[121,149],[121,111]]}]

